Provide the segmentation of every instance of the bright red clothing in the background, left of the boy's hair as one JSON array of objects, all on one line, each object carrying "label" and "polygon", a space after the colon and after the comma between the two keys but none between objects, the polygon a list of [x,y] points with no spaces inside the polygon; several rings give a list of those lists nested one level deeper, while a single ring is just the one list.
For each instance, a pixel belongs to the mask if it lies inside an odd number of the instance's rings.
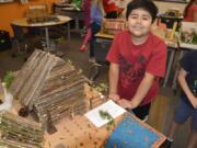
[{"label": "bright red clothing in the background, left of the boy's hair", "polygon": [[113,12],[113,11],[119,12],[121,10],[120,8],[118,8],[115,4],[115,2],[108,4],[108,1],[109,0],[103,0],[103,9],[104,9],[105,13]]}]

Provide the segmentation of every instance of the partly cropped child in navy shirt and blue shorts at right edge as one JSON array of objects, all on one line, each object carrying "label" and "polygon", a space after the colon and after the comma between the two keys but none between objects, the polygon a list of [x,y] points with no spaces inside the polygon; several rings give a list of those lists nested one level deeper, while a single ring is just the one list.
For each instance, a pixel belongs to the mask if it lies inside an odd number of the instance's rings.
[{"label": "partly cropped child in navy shirt and blue shorts at right edge", "polygon": [[178,82],[182,88],[182,95],[174,112],[174,121],[167,132],[167,140],[162,148],[171,147],[175,130],[189,117],[193,121],[187,148],[197,148],[197,50],[186,54],[181,60],[181,67]]}]

